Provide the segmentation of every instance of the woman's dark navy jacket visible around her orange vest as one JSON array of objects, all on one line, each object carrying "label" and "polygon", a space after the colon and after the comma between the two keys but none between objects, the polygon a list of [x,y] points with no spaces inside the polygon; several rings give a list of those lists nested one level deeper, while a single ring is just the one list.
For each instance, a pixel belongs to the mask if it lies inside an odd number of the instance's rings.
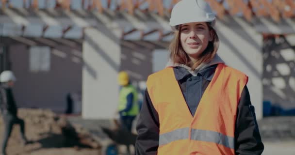
[{"label": "woman's dark navy jacket visible around her orange vest", "polygon": [[[207,67],[192,76],[182,67],[174,67],[175,77],[179,82],[187,106],[193,115],[207,86],[209,85],[216,64]],[[194,98],[193,98],[194,97]],[[245,86],[238,105],[235,125],[235,154],[261,155],[263,144],[260,137],[254,107],[250,102],[250,95]],[[148,91],[140,111],[137,123],[138,137],[136,140],[136,155],[156,155],[159,146],[159,116],[150,100]]]}]

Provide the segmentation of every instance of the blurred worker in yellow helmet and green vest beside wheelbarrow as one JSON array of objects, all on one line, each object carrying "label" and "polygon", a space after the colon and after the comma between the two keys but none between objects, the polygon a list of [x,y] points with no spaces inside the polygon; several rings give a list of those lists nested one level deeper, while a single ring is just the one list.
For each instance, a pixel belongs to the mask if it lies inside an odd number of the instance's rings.
[{"label": "blurred worker in yellow helmet and green vest beside wheelbarrow", "polygon": [[131,132],[132,122],[139,113],[137,91],[131,85],[129,75],[125,71],[119,73],[118,83],[121,86],[118,106],[120,121]]}]

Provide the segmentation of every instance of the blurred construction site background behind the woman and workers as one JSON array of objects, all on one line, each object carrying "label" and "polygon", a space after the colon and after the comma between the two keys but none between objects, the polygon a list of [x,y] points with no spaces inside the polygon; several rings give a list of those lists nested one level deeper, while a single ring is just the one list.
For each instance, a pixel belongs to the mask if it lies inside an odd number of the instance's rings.
[{"label": "blurred construction site background behind the woman and workers", "polygon": [[[0,0],[0,72],[16,76],[18,116],[33,141],[20,145],[15,125],[7,155],[127,155],[120,143],[107,153],[116,142],[101,128],[119,133],[117,75],[130,75],[143,102],[148,76],[169,60],[178,1]],[[249,77],[262,155],[295,155],[295,1],[206,1],[218,55]]]}]

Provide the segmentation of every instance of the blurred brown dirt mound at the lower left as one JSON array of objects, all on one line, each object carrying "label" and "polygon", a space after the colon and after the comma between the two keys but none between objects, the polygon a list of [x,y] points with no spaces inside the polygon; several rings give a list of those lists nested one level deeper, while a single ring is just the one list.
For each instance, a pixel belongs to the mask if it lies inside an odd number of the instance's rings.
[{"label": "blurred brown dirt mound at the lower left", "polygon": [[[100,145],[82,126],[72,126],[65,116],[50,110],[19,109],[18,116],[25,121],[26,136],[32,143],[21,144],[19,125],[15,125],[8,141],[8,155],[99,155]],[[0,116],[0,140],[3,120]]]}]

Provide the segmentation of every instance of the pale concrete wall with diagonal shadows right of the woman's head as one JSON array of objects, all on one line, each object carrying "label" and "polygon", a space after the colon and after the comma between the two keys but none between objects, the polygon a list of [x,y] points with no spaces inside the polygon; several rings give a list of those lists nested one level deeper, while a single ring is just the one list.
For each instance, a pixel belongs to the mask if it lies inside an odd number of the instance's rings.
[{"label": "pale concrete wall with diagonal shadows right of the woman's head", "polygon": [[262,119],[262,35],[242,19],[218,21],[219,56],[249,77],[247,87],[257,119]]}]

